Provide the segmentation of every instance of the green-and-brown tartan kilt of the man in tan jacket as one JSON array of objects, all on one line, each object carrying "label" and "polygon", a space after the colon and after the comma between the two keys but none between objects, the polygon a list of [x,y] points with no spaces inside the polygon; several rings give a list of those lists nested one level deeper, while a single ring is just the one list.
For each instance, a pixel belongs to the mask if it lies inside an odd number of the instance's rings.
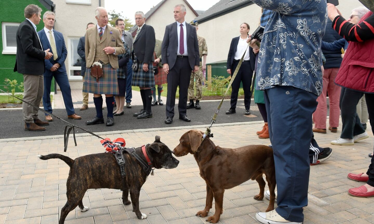
[{"label": "green-and-brown tartan kilt of the man in tan jacket", "polygon": [[110,63],[102,65],[103,76],[96,82],[91,75],[91,68],[86,69],[83,79],[83,92],[94,94],[118,94],[117,69],[112,68]]}]

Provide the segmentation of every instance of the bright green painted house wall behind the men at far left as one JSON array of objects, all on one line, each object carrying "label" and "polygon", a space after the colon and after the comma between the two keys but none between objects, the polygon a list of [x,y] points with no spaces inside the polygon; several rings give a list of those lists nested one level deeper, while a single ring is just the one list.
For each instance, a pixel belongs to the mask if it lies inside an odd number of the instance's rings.
[{"label": "bright green painted house wall behind the men at far left", "polygon": [[[28,4],[36,4],[42,8],[43,12],[48,9],[40,3],[39,0],[13,0],[13,1],[1,1],[1,13],[0,22],[23,22],[25,20],[24,9]],[[50,10],[50,9],[49,9]],[[43,21],[40,21],[39,25],[36,26],[37,30],[43,29]],[[9,78],[10,80],[17,80],[18,84],[23,82],[23,76],[18,72],[13,72],[14,65],[16,62],[16,55],[3,55],[3,30],[2,25],[0,29],[0,88],[4,90],[4,80]],[[52,84],[52,91],[54,91],[54,85]],[[19,92],[19,90],[16,90]]]}]

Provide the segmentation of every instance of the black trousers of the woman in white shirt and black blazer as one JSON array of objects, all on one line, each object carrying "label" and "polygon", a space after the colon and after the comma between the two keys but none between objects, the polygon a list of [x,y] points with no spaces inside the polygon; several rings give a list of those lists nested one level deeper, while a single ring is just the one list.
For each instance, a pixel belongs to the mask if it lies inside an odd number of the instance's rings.
[{"label": "black trousers of the woman in white shirt and black blazer", "polygon": [[[239,61],[234,60],[233,66],[231,69],[231,77],[233,76],[236,66],[238,64],[239,64]],[[253,76],[253,70],[251,69],[251,63],[249,62],[249,60],[243,61],[231,85],[232,92],[231,92],[231,100],[230,100],[230,105],[231,105],[230,109],[234,110],[236,108],[237,95],[239,93],[240,82],[242,82],[243,90],[244,90],[244,106],[246,110],[249,110],[249,106],[251,105],[252,76]]]}]

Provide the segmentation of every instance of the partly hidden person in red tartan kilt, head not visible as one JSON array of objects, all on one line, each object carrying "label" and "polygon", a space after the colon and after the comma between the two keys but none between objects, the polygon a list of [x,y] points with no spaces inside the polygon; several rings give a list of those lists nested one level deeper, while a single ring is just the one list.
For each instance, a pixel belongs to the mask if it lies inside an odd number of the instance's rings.
[{"label": "partly hidden person in red tartan kilt, head not visible", "polygon": [[[155,86],[151,88],[152,95],[153,95],[153,102],[152,106],[156,106],[157,103],[162,106],[163,102],[161,100],[161,93],[162,93],[162,84],[168,83],[168,74],[166,74],[165,71],[163,71],[162,65],[161,65],[161,40],[156,40],[156,45],[154,46],[154,84]],[[157,71],[157,72],[156,72]],[[159,98],[156,99],[156,85],[157,85],[157,91],[159,94]]]}]

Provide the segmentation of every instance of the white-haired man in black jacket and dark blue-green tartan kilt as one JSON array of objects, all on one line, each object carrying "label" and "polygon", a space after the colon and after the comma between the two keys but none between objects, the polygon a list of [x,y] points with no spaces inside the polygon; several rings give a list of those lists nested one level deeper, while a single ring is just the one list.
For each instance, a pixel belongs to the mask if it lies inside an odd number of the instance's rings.
[{"label": "white-haired man in black jacket and dark blue-green tartan kilt", "polygon": [[132,85],[140,87],[140,96],[143,101],[143,109],[134,113],[139,119],[151,118],[152,91],[154,87],[153,75],[153,51],[156,44],[156,37],[153,27],[145,24],[144,13],[135,13],[135,23],[138,26],[137,34],[134,38],[134,55],[136,57],[137,68],[132,74]]}]

